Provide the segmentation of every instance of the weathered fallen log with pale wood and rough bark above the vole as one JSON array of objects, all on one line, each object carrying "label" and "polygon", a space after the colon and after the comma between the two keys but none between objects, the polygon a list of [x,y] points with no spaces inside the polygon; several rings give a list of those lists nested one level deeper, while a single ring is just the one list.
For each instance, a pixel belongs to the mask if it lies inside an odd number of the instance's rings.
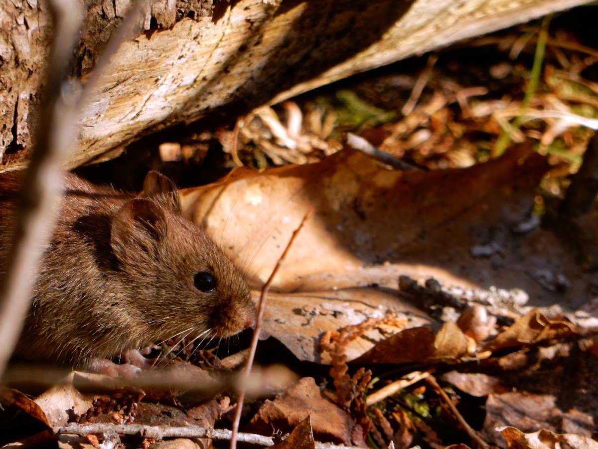
[{"label": "weathered fallen log with pale wood and rough bark above the vole", "polygon": [[[85,79],[130,0],[85,0]],[[584,0],[157,0],[81,117],[69,166],[176,123],[235,117],[314,87]],[[47,51],[43,0],[0,5],[0,154],[22,165]],[[24,148],[24,150],[23,150]],[[114,151],[112,151],[114,153]]]}]

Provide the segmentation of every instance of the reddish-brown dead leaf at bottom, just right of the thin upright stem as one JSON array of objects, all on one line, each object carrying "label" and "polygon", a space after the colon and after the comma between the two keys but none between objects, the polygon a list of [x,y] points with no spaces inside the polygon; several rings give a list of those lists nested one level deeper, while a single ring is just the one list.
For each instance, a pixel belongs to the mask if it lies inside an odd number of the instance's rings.
[{"label": "reddish-brown dead leaf at bottom, just right of the thin upright stem", "polygon": [[353,423],[338,406],[322,396],[312,377],[304,377],[274,401],[266,401],[251,419],[251,432],[271,435],[273,431],[291,432],[311,415],[317,441],[349,445]]}]

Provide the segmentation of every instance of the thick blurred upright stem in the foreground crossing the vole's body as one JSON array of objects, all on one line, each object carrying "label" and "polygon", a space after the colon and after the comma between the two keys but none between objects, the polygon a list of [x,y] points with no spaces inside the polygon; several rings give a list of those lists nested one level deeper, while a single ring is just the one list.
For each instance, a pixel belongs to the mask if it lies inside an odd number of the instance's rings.
[{"label": "thick blurred upright stem in the foreground crossing the vole's body", "polygon": [[14,244],[0,285],[0,374],[19,338],[39,260],[48,242],[62,195],[60,166],[75,140],[75,95],[63,84],[83,12],[79,2],[48,2],[54,38],[45,80],[45,107],[16,215]]}]

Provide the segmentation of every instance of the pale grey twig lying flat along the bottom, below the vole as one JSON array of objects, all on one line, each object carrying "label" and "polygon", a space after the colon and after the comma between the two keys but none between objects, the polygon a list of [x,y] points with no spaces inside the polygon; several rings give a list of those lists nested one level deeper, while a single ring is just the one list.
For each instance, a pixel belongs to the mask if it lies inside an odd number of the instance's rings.
[{"label": "pale grey twig lying flat along the bottom, below the vole", "polygon": [[[103,434],[105,439],[110,435],[139,435],[146,438],[210,438],[216,440],[231,439],[233,432],[227,429],[213,429],[212,427],[168,427],[168,426],[144,426],[142,424],[69,424],[65,427],[54,427],[56,435],[78,435],[86,436],[91,434]],[[255,435],[254,433],[238,433],[239,441],[260,445],[273,446],[271,436]],[[352,449],[352,446],[338,446],[328,443],[316,442],[316,449]],[[355,448],[356,449],[356,448]]]}]

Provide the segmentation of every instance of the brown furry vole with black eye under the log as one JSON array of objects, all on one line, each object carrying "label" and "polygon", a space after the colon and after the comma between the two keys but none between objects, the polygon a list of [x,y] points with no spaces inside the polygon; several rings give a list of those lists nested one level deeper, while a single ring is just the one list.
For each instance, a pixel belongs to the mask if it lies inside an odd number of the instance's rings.
[{"label": "brown furry vole with black eye under the log", "polygon": [[[0,174],[1,271],[22,182]],[[242,275],[182,216],[170,178],[149,172],[135,195],[66,174],[15,355],[117,374],[108,359],[173,337],[224,338],[254,316]]]}]

